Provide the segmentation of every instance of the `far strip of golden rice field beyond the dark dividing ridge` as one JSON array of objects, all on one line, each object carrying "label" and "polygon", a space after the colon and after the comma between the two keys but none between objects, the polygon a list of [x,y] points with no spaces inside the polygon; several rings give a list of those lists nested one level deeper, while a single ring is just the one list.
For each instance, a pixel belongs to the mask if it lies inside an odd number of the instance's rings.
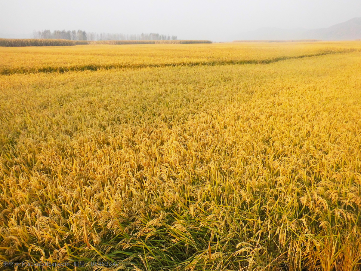
[{"label": "far strip of golden rice field beyond the dark dividing ridge", "polygon": [[261,64],[360,49],[361,43],[358,41],[2,47],[0,75],[112,68]]}]

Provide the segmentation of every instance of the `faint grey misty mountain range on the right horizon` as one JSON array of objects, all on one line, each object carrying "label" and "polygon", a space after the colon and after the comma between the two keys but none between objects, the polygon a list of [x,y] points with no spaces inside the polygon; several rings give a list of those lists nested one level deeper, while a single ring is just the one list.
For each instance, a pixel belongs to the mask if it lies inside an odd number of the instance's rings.
[{"label": "faint grey misty mountain range on the right horizon", "polygon": [[361,18],[353,18],[329,28],[308,30],[305,28],[263,27],[242,33],[238,40],[356,40],[361,39]]}]

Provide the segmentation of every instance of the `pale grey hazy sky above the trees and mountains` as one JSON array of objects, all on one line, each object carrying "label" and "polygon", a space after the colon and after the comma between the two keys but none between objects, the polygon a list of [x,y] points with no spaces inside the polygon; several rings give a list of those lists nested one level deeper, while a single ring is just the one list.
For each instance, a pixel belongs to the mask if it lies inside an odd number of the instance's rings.
[{"label": "pale grey hazy sky above the trees and mountains", "polygon": [[260,27],[321,28],[361,17],[360,0],[0,0],[0,33],[78,30],[226,41]]}]

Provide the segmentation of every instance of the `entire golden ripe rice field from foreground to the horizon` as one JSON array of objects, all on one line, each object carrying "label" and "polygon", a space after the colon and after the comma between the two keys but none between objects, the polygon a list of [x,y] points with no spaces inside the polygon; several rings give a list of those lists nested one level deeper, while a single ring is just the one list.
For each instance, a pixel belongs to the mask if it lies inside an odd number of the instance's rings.
[{"label": "entire golden ripe rice field from foreground to the horizon", "polygon": [[0,48],[1,263],[360,270],[360,63],[357,41]]}]

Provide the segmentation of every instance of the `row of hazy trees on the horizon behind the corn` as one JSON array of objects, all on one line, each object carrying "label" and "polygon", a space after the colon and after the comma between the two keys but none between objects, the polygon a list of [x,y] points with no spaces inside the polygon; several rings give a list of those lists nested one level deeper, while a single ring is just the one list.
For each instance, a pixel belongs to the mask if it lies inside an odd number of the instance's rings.
[{"label": "row of hazy trees on the horizon behind the corn", "polygon": [[34,31],[34,39],[64,39],[64,40],[177,40],[177,36],[162,35],[158,33],[142,33],[140,35],[132,34],[111,34],[111,33],[95,33],[65,30],[50,30]]}]

